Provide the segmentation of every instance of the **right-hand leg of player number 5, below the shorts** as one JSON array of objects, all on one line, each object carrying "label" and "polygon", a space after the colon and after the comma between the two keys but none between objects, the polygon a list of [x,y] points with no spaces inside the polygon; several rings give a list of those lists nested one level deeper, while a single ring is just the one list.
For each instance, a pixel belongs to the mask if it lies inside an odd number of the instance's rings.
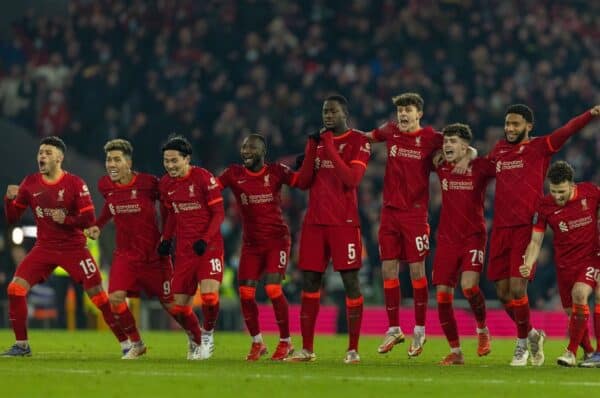
[{"label": "right-hand leg of player number 5, below the shorts", "polygon": [[348,350],[345,363],[358,363],[358,340],[362,323],[364,299],[360,292],[358,269],[340,271],[346,291],[346,320],[348,322]]}]

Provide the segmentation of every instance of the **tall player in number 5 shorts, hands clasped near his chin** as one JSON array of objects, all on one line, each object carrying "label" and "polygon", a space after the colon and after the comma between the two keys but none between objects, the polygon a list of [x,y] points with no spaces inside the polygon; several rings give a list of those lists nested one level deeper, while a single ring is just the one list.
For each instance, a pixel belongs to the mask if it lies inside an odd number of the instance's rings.
[{"label": "tall player in number 5 shorts, hands clasped near his chin", "polygon": [[309,139],[298,176],[298,187],[310,190],[298,265],[302,270],[302,350],[294,351],[286,360],[316,359],[313,342],[320,288],[331,259],[346,290],[349,345],[344,362],[358,363],[363,296],[358,279],[362,243],[356,191],[371,147],[366,135],[348,127],[348,102],[343,96],[327,97],[322,117],[325,127]]}]

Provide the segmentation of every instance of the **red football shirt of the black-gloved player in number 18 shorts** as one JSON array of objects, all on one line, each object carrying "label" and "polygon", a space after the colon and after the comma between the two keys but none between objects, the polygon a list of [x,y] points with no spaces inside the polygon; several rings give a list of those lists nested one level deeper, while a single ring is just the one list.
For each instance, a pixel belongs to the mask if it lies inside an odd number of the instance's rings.
[{"label": "red football shirt of the black-gloved player in number 18 shorts", "polygon": [[175,217],[177,253],[189,252],[199,239],[222,240],[221,232],[206,236],[213,205],[223,202],[217,179],[206,169],[192,166],[181,178],[164,175],[159,182],[160,199]]}]

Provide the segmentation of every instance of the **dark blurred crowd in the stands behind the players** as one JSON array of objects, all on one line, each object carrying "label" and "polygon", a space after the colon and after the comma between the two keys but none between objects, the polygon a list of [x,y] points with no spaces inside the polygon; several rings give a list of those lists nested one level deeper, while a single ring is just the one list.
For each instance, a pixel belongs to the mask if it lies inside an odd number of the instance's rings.
[{"label": "dark blurred crowd in the stands behind the players", "polygon": [[[250,132],[267,137],[271,160],[291,162],[320,128],[327,94],[345,95],[351,125],[368,131],[394,117],[392,96],[416,91],[423,124],[469,123],[486,154],[510,103],[534,109],[536,134],[600,103],[599,12],[597,2],[550,0],[73,0],[65,17],[30,11],[12,25],[0,45],[0,112],[91,158],[103,158],[108,139],[127,138],[137,168],[156,174],[160,144],[177,132],[192,141],[195,161],[218,173],[238,161]],[[599,153],[600,134],[588,128],[560,156],[578,179],[600,183]],[[384,166],[384,147],[375,146],[360,188],[372,302],[381,290]],[[305,196],[284,196],[297,234]],[[487,205],[491,218],[491,196]],[[235,265],[234,206],[223,232]],[[534,306],[557,306],[553,272],[546,252]]]}]

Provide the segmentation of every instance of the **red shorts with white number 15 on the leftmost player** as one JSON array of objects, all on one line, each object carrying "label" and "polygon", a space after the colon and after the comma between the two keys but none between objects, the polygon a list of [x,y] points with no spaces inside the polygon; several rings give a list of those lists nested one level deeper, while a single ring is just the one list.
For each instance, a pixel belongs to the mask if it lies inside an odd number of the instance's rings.
[{"label": "red shorts with white number 15 on the leftmost player", "polygon": [[65,250],[34,246],[17,267],[15,276],[33,286],[48,279],[59,265],[86,290],[102,284],[98,265],[85,247]]}]

